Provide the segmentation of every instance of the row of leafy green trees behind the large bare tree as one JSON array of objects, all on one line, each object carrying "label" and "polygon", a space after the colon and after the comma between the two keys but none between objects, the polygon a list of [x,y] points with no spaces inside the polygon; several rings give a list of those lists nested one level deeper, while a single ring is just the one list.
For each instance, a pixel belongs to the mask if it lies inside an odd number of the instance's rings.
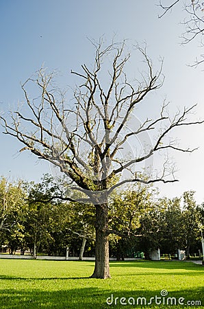
[{"label": "row of leafy green trees behind the large bare tree", "polygon": [[[36,258],[47,255],[94,256],[94,207],[63,201],[68,187],[63,179],[44,175],[40,183],[0,178],[0,246],[10,253],[29,250]],[[113,193],[109,209],[110,256],[123,260],[160,248],[187,257],[201,251],[204,204],[196,205],[194,192],[177,198],[158,198],[153,185],[142,183]],[[69,193],[71,195],[71,193]]]}]

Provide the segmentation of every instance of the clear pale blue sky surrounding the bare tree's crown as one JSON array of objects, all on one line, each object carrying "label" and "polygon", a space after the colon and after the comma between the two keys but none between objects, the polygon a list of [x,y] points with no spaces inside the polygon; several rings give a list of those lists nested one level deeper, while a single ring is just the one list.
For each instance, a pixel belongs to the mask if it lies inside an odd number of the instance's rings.
[{"label": "clear pale blue sky surrounding the bare tree's crown", "polygon": [[[1,0],[0,1],[0,111],[23,102],[21,82],[42,64],[51,71],[60,71],[62,87],[71,84],[71,69],[84,62],[91,63],[93,52],[88,38],[104,35],[109,41],[114,34],[118,41],[129,38],[131,43],[146,41],[148,54],[157,62],[164,57],[164,87],[152,96],[148,111],[162,105],[164,98],[171,102],[170,111],[197,103],[195,119],[204,118],[203,72],[201,67],[187,65],[202,51],[194,41],[181,46],[184,31],[179,22],[185,12],[178,6],[171,14],[158,19],[157,0]],[[140,69],[141,63],[131,67]],[[128,73],[128,72],[127,72]],[[132,73],[132,72],[131,72]],[[155,102],[157,101],[157,102]],[[147,108],[147,107],[145,107]],[[144,108],[144,114],[147,109]],[[184,147],[199,150],[190,154],[175,153],[179,183],[160,185],[162,195],[180,196],[186,190],[196,191],[197,203],[204,201],[203,190],[203,125],[185,128],[175,133]],[[0,133],[0,174],[29,181],[40,181],[50,172],[49,163],[39,162],[28,152],[19,154],[23,146],[14,138]]]}]

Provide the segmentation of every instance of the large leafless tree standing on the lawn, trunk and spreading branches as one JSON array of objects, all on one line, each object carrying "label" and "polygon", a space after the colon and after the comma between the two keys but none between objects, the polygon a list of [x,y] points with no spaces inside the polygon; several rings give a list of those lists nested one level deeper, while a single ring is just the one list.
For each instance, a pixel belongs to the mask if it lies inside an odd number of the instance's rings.
[{"label": "large leafless tree standing on the lawn, trunk and spreading branches", "polygon": [[[102,40],[92,43],[95,49],[93,67],[81,65],[80,73],[71,72],[82,80],[73,91],[73,101],[68,104],[62,91],[55,87],[53,73],[48,75],[40,69],[36,78],[29,78],[22,85],[24,111],[11,112],[9,118],[1,116],[1,119],[4,133],[24,144],[20,152],[29,150],[39,159],[58,166],[70,180],[72,191],[80,192],[76,193],[80,198],[75,199],[72,195],[64,199],[93,205],[96,253],[92,277],[108,278],[108,236],[112,233],[107,216],[110,194],[127,183],[177,181],[165,162],[161,174],[142,179],[141,163],[152,158],[154,153],[168,149],[191,152],[166,137],[175,128],[201,122],[187,119],[194,106],[169,117],[167,104],[162,106],[157,119],[137,122],[136,117],[133,118],[136,107],[149,93],[162,86],[162,65],[155,72],[146,48],[137,47],[144,58],[146,74],[142,74],[141,82],[135,80],[130,83],[124,70],[130,58],[130,54],[125,52],[125,42],[112,42],[107,47]],[[36,86],[38,91],[34,100],[29,98],[28,91],[33,90],[29,89],[29,84]],[[151,132],[155,132],[157,138],[153,142],[150,138],[144,139],[142,151],[139,151],[136,140],[141,144],[144,134],[149,136]],[[131,155],[129,146],[132,150],[134,148]]]}]

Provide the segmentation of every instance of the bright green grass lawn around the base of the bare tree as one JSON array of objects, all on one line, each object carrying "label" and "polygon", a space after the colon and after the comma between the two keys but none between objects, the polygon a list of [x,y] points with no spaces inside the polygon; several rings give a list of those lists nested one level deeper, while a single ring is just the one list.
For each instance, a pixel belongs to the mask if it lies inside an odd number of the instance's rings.
[{"label": "bright green grass lawn around the base of the bare tree", "polygon": [[[102,280],[88,278],[94,262],[1,259],[0,308],[204,308],[204,266],[145,261],[110,265],[112,279]],[[177,306],[168,297],[175,297]]]}]

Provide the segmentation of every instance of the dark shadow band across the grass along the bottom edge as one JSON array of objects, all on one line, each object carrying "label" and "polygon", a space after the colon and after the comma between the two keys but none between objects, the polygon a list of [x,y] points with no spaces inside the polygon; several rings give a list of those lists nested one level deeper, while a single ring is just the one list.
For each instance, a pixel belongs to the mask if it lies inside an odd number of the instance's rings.
[{"label": "dark shadow band across the grass along the bottom edge", "polygon": [[[157,299],[156,299],[157,297]],[[168,300],[167,304],[167,299]],[[179,298],[183,302],[183,306],[178,304]],[[123,298],[123,299],[122,299]],[[123,301],[123,305],[120,301]],[[107,300],[108,303],[107,304]],[[3,289],[0,295],[1,309],[10,308],[77,308],[77,309],[98,309],[98,308],[203,308],[203,289],[190,289],[168,291],[168,296],[161,296],[161,290],[135,290],[135,291],[112,291],[103,290],[97,287],[81,287],[72,289],[62,289],[47,292],[40,289],[26,290],[26,289]],[[133,301],[135,304],[133,304]],[[162,303],[160,303],[160,301]],[[199,306],[190,306],[188,301],[200,301]],[[130,302],[130,304],[129,304]],[[151,304],[148,304],[150,303]],[[173,306],[176,304],[176,306]],[[187,306],[188,304],[188,306]],[[192,303],[191,303],[192,304]]]}]

